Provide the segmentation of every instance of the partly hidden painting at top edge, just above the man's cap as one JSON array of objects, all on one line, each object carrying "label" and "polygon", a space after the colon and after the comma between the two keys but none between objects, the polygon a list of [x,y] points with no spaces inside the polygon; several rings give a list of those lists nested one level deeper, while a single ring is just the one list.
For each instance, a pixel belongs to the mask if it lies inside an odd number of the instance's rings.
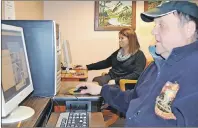
[{"label": "partly hidden painting at top edge, just above the man's cap", "polygon": [[144,1],[144,11],[155,8],[161,4],[163,0],[148,0]]}]

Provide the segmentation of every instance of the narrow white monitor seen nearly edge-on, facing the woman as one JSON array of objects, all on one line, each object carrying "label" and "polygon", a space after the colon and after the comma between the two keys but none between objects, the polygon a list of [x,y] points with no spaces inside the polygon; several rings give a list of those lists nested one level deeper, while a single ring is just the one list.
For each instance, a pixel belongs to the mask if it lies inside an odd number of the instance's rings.
[{"label": "narrow white monitor seen nearly edge-on, facing the woman", "polygon": [[63,41],[62,44],[62,52],[63,52],[63,66],[67,68],[71,68],[72,66],[72,57],[71,57],[71,50],[70,45],[67,40]]}]

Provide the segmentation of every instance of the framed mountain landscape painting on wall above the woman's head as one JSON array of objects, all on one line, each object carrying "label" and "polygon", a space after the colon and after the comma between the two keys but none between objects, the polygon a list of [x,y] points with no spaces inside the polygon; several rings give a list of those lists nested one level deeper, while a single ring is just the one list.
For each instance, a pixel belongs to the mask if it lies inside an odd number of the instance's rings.
[{"label": "framed mountain landscape painting on wall above the woman's head", "polygon": [[125,27],[136,28],[135,1],[95,1],[95,31],[119,31]]}]

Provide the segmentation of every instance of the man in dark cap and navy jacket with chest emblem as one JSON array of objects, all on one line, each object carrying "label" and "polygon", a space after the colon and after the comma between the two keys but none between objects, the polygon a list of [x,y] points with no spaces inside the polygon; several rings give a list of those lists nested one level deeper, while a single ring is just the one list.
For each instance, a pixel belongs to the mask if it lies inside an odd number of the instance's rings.
[{"label": "man in dark cap and navy jacket with chest emblem", "polygon": [[[155,22],[154,63],[142,73],[134,90],[87,86],[81,93],[101,94],[126,114],[126,127],[198,126],[198,6],[187,1],[166,1],[141,14]],[[150,47],[153,49],[153,47]]]}]

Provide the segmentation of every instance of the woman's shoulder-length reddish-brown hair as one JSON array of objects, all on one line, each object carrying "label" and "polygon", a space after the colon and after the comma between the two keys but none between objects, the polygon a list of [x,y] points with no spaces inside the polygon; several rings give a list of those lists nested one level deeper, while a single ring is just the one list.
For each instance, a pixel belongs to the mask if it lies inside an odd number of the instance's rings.
[{"label": "woman's shoulder-length reddish-brown hair", "polygon": [[137,39],[137,35],[133,29],[123,28],[119,32],[120,35],[126,36],[129,40],[129,53],[134,54],[140,49],[140,44]]}]

